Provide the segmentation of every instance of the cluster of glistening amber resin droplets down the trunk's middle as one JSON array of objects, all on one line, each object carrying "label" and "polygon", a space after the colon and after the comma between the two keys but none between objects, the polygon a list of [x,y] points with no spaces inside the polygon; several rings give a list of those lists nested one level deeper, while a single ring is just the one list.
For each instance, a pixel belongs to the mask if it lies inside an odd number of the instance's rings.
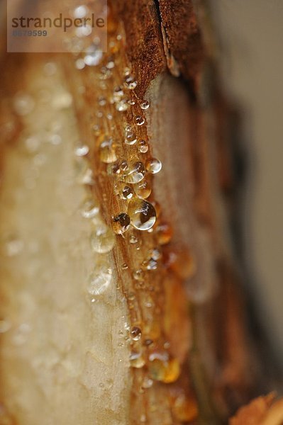
[{"label": "cluster of glistening amber resin droplets down the trunk's middle", "polygon": [[[130,364],[133,370],[143,370],[140,392],[144,392],[156,381],[171,383],[179,378],[180,363],[170,352],[170,342],[162,336],[162,305],[151,281],[155,282],[156,271],[160,276],[166,273],[166,268],[182,270],[182,264],[177,256],[163,251],[172,238],[172,227],[163,220],[160,205],[152,194],[152,183],[155,174],[162,171],[162,163],[150,152],[146,120],[150,103],[138,97],[138,81],[126,60],[117,55],[123,43],[123,33],[110,21],[107,54],[94,55],[96,60],[91,63],[99,94],[91,122],[95,146],[89,157],[94,157],[96,174],[113,190],[111,193],[107,189],[107,195],[101,193],[102,200],[111,197],[108,202],[111,227],[101,218],[98,220],[96,205],[89,205],[84,216],[90,215],[92,225],[95,221],[91,248],[96,253],[105,256],[113,249],[116,238],[137,252],[133,263],[121,266],[121,273],[131,276],[131,288],[124,288],[131,324],[126,323],[125,329],[121,329],[119,344],[122,346],[125,341],[130,344]],[[82,147],[80,152],[84,154]],[[145,234],[150,235],[151,242],[141,249]],[[91,295],[97,297],[103,292],[111,278],[109,264],[96,267],[90,276]],[[140,421],[145,422],[146,416],[142,416]]]}]

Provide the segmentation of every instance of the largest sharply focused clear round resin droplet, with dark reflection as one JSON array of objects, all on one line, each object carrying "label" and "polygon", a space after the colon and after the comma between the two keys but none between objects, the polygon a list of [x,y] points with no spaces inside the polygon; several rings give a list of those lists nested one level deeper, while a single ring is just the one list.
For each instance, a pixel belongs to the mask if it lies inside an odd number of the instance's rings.
[{"label": "largest sharply focused clear round resin droplet, with dark reflection", "polygon": [[136,229],[148,230],[155,224],[155,208],[147,200],[130,200],[128,215],[131,217],[131,223]]}]

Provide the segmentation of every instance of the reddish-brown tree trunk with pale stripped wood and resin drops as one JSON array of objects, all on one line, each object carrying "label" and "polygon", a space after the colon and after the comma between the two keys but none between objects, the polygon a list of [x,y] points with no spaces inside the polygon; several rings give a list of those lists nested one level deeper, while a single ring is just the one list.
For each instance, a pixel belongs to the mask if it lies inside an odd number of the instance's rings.
[{"label": "reddish-brown tree trunk with pale stripped wood and resin drops", "polygon": [[108,31],[96,66],[1,58],[0,424],[221,424],[262,387],[209,17]]}]

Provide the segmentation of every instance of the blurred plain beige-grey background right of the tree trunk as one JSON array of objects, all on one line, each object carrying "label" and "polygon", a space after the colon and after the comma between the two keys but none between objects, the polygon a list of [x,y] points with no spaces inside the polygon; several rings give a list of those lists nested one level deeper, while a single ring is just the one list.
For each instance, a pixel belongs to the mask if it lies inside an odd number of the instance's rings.
[{"label": "blurred plain beige-grey background right of the tree trunk", "polygon": [[[210,0],[226,94],[240,107],[248,174],[245,260],[258,319],[283,354],[283,1]],[[282,362],[281,362],[282,363]],[[283,365],[282,365],[283,366]]]}]

